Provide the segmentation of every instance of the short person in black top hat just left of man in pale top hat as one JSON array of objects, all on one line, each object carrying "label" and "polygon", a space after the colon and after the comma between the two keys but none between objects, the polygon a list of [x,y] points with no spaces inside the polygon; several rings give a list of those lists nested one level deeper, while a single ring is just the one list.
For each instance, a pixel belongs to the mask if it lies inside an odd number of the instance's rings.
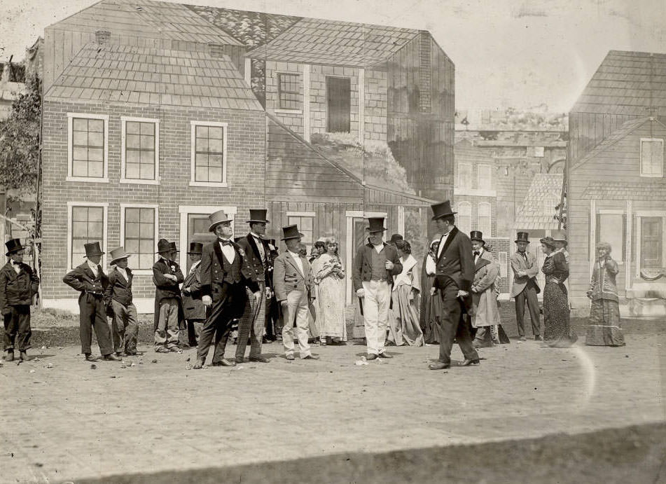
[{"label": "short person in black top hat just left of man in pale top hat", "polygon": [[204,244],[201,242],[190,242],[188,257],[190,258],[190,270],[183,281],[182,300],[183,315],[187,321],[188,344],[196,346],[201,329],[206,319],[206,306],[201,300],[201,253]]}]

